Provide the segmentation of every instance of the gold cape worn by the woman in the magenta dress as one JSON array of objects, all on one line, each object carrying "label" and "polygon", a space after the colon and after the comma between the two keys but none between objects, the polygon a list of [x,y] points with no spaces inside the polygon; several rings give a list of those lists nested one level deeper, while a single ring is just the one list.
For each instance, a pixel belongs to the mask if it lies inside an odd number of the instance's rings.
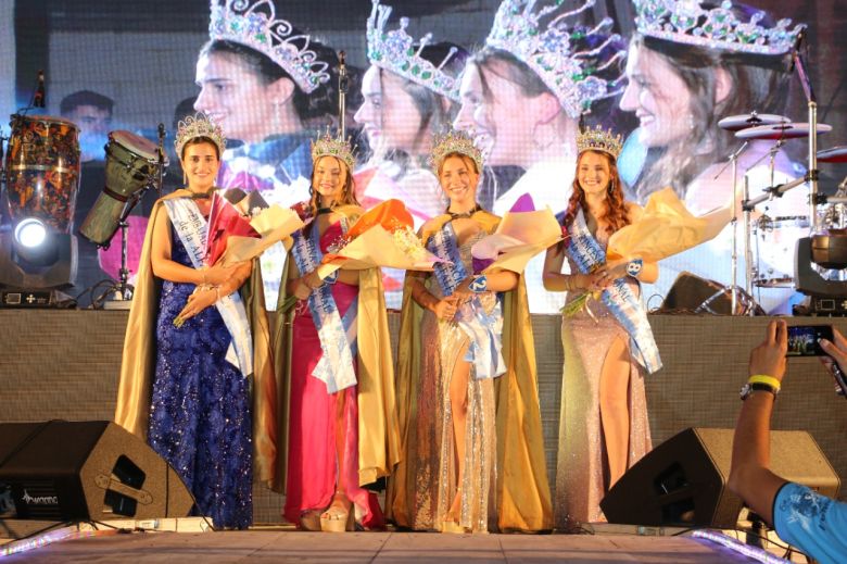
[{"label": "gold cape worn by the woman in the magenta dress", "polygon": [[[362,214],[357,205],[343,205],[333,210],[344,215],[351,223]],[[279,288],[279,303],[288,297],[288,272],[291,251],[288,253],[282,283]],[[382,273],[379,268],[358,272],[358,311],[356,312],[357,331],[357,403],[358,403],[358,482],[365,486],[389,476],[399,462],[400,434],[394,401],[394,366],[391,354],[391,340],[388,330],[388,312],[382,291]],[[292,354],[292,333],[294,309],[277,315],[275,331],[275,361],[277,374],[282,375],[282,400],[280,404],[280,427],[278,446],[280,459],[278,467],[285,487],[288,471],[288,412],[291,397],[289,358]]]}]

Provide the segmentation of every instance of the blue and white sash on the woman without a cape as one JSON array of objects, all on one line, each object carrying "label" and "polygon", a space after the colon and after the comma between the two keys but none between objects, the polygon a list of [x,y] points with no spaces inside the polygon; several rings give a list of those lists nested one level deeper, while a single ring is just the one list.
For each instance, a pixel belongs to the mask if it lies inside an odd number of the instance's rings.
[{"label": "blue and white sash on the woman without a cape", "polygon": [[[606,251],[591,235],[582,210],[579,210],[569,230],[568,254],[577,263],[577,267],[582,274],[589,274],[606,264]],[[647,321],[647,312],[644,310],[641,299],[627,285],[625,277],[611,283],[611,286],[603,290],[601,299],[629,334],[630,350],[639,364],[644,366],[649,374],[661,368],[659,348],[656,347],[656,341],[653,339],[653,329]]]}]

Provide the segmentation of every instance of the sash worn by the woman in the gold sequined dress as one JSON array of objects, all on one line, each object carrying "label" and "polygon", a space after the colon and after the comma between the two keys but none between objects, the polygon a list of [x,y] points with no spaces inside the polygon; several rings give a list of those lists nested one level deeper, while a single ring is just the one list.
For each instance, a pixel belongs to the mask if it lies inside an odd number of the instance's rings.
[{"label": "sash worn by the woman in the gold sequined dress", "polygon": [[[462,263],[456,233],[451,222],[445,223],[427,241],[427,249],[441,259],[434,265],[435,280],[444,296],[451,296],[467,276],[467,270]],[[464,303],[457,314],[456,324],[468,336],[470,343],[465,355],[466,362],[473,363],[475,377],[496,378],[506,372],[503,360],[503,310],[500,300],[491,311],[485,313],[479,297],[472,297]]]}]

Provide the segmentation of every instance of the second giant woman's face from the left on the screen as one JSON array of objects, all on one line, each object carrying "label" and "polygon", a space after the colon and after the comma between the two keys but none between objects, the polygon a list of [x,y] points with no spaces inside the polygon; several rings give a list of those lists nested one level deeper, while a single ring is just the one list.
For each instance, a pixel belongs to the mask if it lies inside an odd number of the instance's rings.
[{"label": "second giant woman's face from the left on the screen", "polygon": [[421,116],[405,80],[370,65],[362,79],[365,102],[353,117],[362,124],[375,149],[401,150],[414,154],[420,140]]}]

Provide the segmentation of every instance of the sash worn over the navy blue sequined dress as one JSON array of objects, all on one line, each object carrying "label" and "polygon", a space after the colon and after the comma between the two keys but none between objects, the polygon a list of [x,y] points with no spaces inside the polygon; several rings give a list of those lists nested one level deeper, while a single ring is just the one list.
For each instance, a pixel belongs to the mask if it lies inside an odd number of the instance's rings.
[{"label": "sash worn over the navy blue sequined dress", "polygon": [[[220,198],[214,195],[213,198]],[[208,224],[190,198],[170,198],[164,200],[170,224],[191,259],[194,268],[202,268],[206,253]],[[253,372],[253,339],[250,336],[250,323],[244,310],[244,302],[236,291],[215,302],[220,317],[224,319],[231,340],[227,349],[226,360],[238,366],[244,376]]]}]

